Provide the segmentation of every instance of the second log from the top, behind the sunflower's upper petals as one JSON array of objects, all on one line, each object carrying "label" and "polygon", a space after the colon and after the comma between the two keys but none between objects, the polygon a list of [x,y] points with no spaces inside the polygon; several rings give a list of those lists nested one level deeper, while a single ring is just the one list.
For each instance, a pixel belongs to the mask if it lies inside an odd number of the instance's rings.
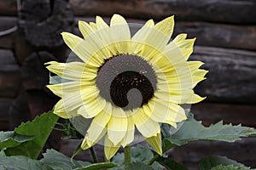
[{"label": "second log from the top, behind the sunflower's upper petals", "polygon": [[[76,26],[78,26],[79,20],[95,22],[95,17],[76,17]],[[110,18],[103,17],[103,20],[109,24]],[[146,20],[131,18],[126,20],[128,23],[138,23],[142,26],[146,22]],[[74,29],[74,33],[80,36],[77,27]],[[172,38],[180,33],[188,34],[188,38],[196,37],[196,45],[256,50],[256,26],[177,21]]]}]

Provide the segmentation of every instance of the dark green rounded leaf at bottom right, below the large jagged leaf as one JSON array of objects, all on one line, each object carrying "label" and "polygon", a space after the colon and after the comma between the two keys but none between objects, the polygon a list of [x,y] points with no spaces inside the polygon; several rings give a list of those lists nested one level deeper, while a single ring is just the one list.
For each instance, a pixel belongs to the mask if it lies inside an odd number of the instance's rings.
[{"label": "dark green rounded leaf at bottom right, below the large jagged leaf", "polygon": [[245,167],[243,164],[231,160],[226,156],[207,156],[201,159],[199,163],[200,170],[208,170],[218,165],[233,165],[235,167]]}]

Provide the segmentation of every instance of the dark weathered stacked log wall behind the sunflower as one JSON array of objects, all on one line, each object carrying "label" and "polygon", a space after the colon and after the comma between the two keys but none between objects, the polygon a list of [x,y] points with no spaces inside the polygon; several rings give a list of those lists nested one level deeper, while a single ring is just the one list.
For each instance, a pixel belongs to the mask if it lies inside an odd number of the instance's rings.
[{"label": "dark weathered stacked log wall behind the sunflower", "polygon": [[[0,0],[0,130],[49,111],[57,98],[46,88],[44,62],[65,61],[69,50],[61,31],[79,34],[77,20],[106,21],[114,13],[130,22],[161,20],[175,14],[174,36],[197,37],[191,60],[205,62],[207,80],[195,91],[207,100],[192,106],[205,125],[224,120],[256,127],[256,2],[253,0]],[[18,10],[19,9],[19,10]],[[18,12],[19,11],[19,12]],[[10,32],[6,32],[9,30]],[[1,35],[1,32],[4,35]],[[67,155],[74,144],[57,145]],[[195,142],[170,152],[196,169],[202,156],[222,155],[256,167],[256,139],[234,144]],[[98,153],[100,154],[100,153]],[[86,153],[81,159],[88,159]],[[90,159],[90,158],[89,158]]]}]

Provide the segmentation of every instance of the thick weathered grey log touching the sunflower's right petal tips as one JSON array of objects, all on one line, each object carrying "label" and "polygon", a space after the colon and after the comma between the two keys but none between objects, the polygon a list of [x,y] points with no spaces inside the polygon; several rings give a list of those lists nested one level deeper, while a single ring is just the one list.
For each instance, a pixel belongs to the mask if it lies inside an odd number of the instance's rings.
[{"label": "thick weathered grey log touching the sunflower's right petal tips", "polygon": [[209,71],[195,91],[208,101],[256,103],[256,53],[227,48],[195,47],[190,60],[201,60]]}]

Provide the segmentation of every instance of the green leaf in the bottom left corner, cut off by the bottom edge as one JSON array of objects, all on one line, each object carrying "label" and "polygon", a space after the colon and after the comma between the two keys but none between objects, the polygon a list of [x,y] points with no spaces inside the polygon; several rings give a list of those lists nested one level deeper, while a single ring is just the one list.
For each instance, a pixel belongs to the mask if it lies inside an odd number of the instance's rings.
[{"label": "green leaf in the bottom left corner, cut off by the bottom edge", "polygon": [[15,169],[15,170],[54,170],[45,165],[42,161],[32,160],[26,156],[0,156],[1,169]]}]

